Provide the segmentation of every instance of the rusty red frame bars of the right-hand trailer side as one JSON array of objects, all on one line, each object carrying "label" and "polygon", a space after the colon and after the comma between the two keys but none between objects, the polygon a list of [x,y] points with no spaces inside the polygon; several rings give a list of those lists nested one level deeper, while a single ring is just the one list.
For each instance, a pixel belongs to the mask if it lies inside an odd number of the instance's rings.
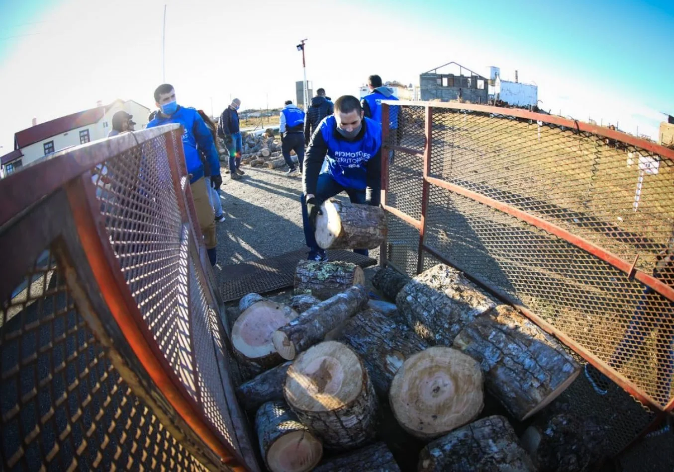
[{"label": "rusty red frame bars of the right-hand trailer side", "polygon": [[[425,129],[426,145],[423,154],[421,154],[421,156],[423,156],[423,191],[421,202],[421,220],[416,220],[414,217],[411,217],[410,215],[404,213],[403,211],[400,211],[400,209],[388,205],[388,201],[385,198],[386,197],[385,189],[388,185],[388,172],[389,172],[388,159],[382,160],[382,175],[381,175],[381,189],[382,189],[381,206],[392,215],[400,218],[400,220],[403,220],[407,224],[410,224],[410,226],[413,226],[414,228],[419,230],[417,273],[420,273],[423,270],[424,251],[428,252],[429,255],[432,255],[436,259],[439,259],[444,263],[456,267],[457,269],[463,271],[469,279],[471,279],[478,285],[481,285],[481,287],[485,288],[489,292],[492,292],[504,302],[516,306],[516,308],[518,308],[522,312],[522,314],[524,314],[527,318],[530,318],[531,321],[539,325],[539,327],[541,327],[544,331],[547,331],[547,333],[554,335],[565,345],[568,345],[568,347],[576,351],[576,353],[578,353],[585,360],[590,362],[590,364],[592,364],[600,372],[605,374],[605,376],[607,376],[608,378],[613,380],[613,382],[621,386],[622,389],[624,389],[625,391],[627,391],[627,393],[632,395],[632,397],[640,401],[640,403],[648,406],[652,411],[655,412],[661,411],[663,412],[663,414],[665,414],[664,412],[667,411],[674,411],[674,399],[669,401],[669,403],[665,406],[665,408],[662,409],[658,405],[658,402],[656,400],[654,400],[652,397],[642,392],[639,389],[639,387],[636,386],[636,384],[634,384],[634,382],[627,380],[627,378],[621,376],[620,374],[617,374],[615,371],[613,371],[613,369],[611,369],[608,366],[608,364],[606,364],[605,362],[603,362],[603,360],[596,357],[594,353],[592,353],[589,349],[586,349],[585,347],[577,343],[574,339],[572,339],[572,337],[566,335],[563,331],[557,329],[556,327],[545,321],[543,318],[541,318],[540,316],[538,316],[537,314],[535,314],[534,312],[523,306],[520,300],[516,300],[509,294],[503,292],[502,290],[499,290],[499,288],[495,287],[493,284],[489,283],[488,281],[480,277],[480,275],[465,271],[462,267],[460,267],[460,265],[457,265],[456,262],[451,261],[447,257],[444,257],[441,251],[437,250],[437,248],[434,248],[429,244],[425,244],[424,242],[425,226],[426,226],[425,220],[429,200],[429,187],[433,185],[441,189],[446,189],[452,193],[468,197],[472,201],[482,203],[483,205],[487,205],[493,209],[497,209],[499,211],[502,211],[503,213],[512,215],[518,218],[518,220],[522,220],[536,228],[540,228],[541,230],[548,232],[549,234],[553,234],[558,238],[561,238],[566,242],[569,242],[570,244],[573,244],[574,246],[577,246],[578,248],[581,248],[582,250],[589,252],[591,255],[594,255],[594,257],[597,257],[598,259],[605,261],[606,263],[615,267],[616,269],[619,269],[620,271],[625,273],[628,277],[634,277],[634,279],[640,281],[644,285],[648,285],[650,288],[656,290],[656,292],[665,296],[667,299],[674,301],[674,288],[671,287],[670,285],[667,285],[666,283],[663,283],[659,279],[656,279],[652,275],[649,275],[648,273],[637,270],[634,267],[636,265],[636,259],[635,261],[632,262],[625,261],[624,259],[617,257],[609,250],[605,250],[604,248],[601,248],[601,246],[598,246],[597,244],[594,244],[584,238],[580,238],[579,236],[572,234],[568,230],[565,230],[550,222],[547,222],[540,217],[532,215],[531,213],[527,213],[526,211],[522,211],[512,205],[509,205],[508,203],[496,201],[494,199],[486,197],[485,195],[481,195],[479,193],[465,189],[464,187],[460,187],[456,184],[451,184],[450,182],[446,182],[439,178],[431,177],[429,175],[430,160],[431,160],[430,159],[431,141],[432,141],[431,129],[432,129],[433,108],[449,108],[458,111],[472,110],[475,112],[490,113],[499,116],[515,116],[516,118],[524,120],[543,121],[544,123],[547,124],[568,127],[570,129],[575,129],[578,131],[585,131],[587,133],[601,135],[609,139],[615,139],[616,141],[622,141],[623,143],[628,143],[630,145],[634,145],[635,147],[646,149],[654,154],[658,154],[659,156],[663,156],[664,158],[668,158],[673,161],[674,161],[674,149],[668,149],[666,147],[656,145],[655,143],[651,143],[649,141],[645,141],[644,139],[640,139],[632,135],[627,135],[619,131],[613,131],[607,128],[598,127],[596,125],[590,125],[588,123],[564,119],[561,116],[529,112],[527,110],[522,110],[519,108],[499,108],[495,106],[485,106],[476,104],[457,104],[446,102],[410,102],[410,101],[394,101],[394,100],[384,100],[382,101],[382,104],[384,104],[382,108],[382,115],[385,117],[388,117],[390,106],[400,106],[401,108],[402,107],[419,108],[420,106],[423,106],[425,108],[424,129]],[[383,119],[382,123],[388,123],[388,119],[386,120]],[[385,126],[384,133],[387,133],[387,131],[388,127]],[[384,149],[387,148],[384,147]],[[413,154],[416,156],[420,155],[419,151],[408,149],[406,147],[390,146],[389,149],[398,149],[400,151],[404,151],[408,154]],[[386,260],[386,257],[387,256],[386,256],[386,241],[385,241],[384,244],[381,245],[379,255],[380,264],[394,266],[393,263]],[[400,268],[395,266],[394,268],[400,271]],[[661,418],[661,415],[658,415],[658,418]]]}]

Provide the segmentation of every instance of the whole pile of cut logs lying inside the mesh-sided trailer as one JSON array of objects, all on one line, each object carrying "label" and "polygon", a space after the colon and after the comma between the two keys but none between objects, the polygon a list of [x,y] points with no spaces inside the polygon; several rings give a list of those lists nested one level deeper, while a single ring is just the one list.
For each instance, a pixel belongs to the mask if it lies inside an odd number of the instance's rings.
[{"label": "whole pile of cut logs lying inside the mesh-sided trailer", "polygon": [[[241,299],[232,345],[255,376],[237,397],[268,469],[580,471],[596,460],[588,438],[601,428],[544,409],[580,371],[555,339],[446,265],[413,279],[380,269],[373,282],[396,300],[386,314],[347,263],[301,261],[286,304]],[[502,415],[483,413],[485,395]],[[390,440],[392,424],[408,439]]]}]

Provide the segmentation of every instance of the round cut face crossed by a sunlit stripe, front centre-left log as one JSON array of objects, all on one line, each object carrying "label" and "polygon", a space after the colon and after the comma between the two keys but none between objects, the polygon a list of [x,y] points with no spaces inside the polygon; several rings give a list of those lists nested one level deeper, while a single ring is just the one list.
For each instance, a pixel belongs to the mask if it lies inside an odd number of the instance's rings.
[{"label": "round cut face crossed by a sunlit stripe, front centre-left log", "polygon": [[311,347],[290,366],[285,395],[293,409],[328,411],[353,402],[363,389],[364,376],[354,351],[337,341],[326,341]]}]

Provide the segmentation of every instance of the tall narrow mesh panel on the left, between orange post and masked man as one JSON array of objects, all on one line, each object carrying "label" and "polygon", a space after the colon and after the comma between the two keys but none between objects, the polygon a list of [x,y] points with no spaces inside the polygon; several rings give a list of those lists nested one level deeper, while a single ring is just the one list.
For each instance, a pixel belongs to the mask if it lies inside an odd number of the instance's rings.
[{"label": "tall narrow mesh panel on the left, between orange post and masked man", "polygon": [[115,156],[94,170],[92,181],[129,290],[166,360],[197,399],[187,318],[189,233],[165,145],[162,136]]}]

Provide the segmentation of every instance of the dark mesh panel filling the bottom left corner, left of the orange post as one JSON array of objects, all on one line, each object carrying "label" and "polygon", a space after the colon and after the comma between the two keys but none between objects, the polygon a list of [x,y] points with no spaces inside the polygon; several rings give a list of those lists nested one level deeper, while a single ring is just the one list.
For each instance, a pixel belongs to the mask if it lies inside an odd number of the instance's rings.
[{"label": "dark mesh panel filling the bottom left corner, left of the orange post", "polygon": [[0,469],[206,470],[133,395],[45,250],[0,309]]}]

